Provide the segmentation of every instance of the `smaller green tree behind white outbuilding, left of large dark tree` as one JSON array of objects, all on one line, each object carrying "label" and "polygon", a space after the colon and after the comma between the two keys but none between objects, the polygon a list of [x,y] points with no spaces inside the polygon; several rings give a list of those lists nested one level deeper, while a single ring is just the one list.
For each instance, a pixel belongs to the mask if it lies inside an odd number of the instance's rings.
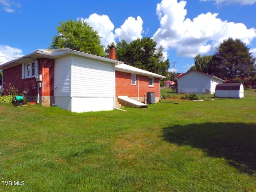
[{"label": "smaller green tree behind white outbuilding, left of large dark tree", "polygon": [[212,74],[213,56],[200,56],[200,54],[194,57],[195,68],[198,71]]}]

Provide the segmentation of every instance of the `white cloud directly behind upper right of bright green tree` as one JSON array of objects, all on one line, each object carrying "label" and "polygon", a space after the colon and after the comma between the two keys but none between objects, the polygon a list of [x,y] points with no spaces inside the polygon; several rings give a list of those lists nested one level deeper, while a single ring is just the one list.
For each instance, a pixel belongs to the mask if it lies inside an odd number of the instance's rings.
[{"label": "white cloud directly behind upper right of bright green tree", "polygon": [[82,21],[88,22],[88,24],[96,31],[101,37],[101,44],[107,47],[114,40],[114,24],[111,22],[110,18],[107,15],[98,15],[96,13],[91,14],[89,18],[78,18]]}]

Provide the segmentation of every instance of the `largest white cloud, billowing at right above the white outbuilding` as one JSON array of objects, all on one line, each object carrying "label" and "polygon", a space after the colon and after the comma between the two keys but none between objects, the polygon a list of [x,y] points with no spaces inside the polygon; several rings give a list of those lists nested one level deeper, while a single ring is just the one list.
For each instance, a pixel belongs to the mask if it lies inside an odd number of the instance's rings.
[{"label": "largest white cloud, billowing at right above the white outbuilding", "polygon": [[242,23],[222,21],[218,13],[200,14],[192,20],[185,18],[185,6],[184,0],[162,0],[156,8],[161,28],[153,38],[165,50],[176,49],[178,56],[208,54],[229,37],[239,38],[246,44],[256,38],[255,28],[247,29]]}]

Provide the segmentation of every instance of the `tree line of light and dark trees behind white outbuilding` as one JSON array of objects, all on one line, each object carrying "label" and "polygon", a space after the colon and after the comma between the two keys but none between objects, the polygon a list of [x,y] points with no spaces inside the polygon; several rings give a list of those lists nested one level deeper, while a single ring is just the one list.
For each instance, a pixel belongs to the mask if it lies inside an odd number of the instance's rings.
[{"label": "tree line of light and dark trees behind white outbuilding", "polygon": [[196,69],[228,82],[251,82],[256,79],[256,58],[240,39],[224,40],[214,55],[194,57]]}]

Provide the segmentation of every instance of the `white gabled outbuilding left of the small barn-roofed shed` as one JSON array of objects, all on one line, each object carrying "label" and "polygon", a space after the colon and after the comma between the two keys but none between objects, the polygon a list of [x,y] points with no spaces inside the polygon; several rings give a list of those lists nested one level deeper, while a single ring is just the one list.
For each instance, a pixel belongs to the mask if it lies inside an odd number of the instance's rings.
[{"label": "white gabled outbuilding left of the small barn-roofed shed", "polygon": [[190,70],[176,79],[179,93],[212,94],[217,84],[225,82],[216,76],[197,70]]}]

